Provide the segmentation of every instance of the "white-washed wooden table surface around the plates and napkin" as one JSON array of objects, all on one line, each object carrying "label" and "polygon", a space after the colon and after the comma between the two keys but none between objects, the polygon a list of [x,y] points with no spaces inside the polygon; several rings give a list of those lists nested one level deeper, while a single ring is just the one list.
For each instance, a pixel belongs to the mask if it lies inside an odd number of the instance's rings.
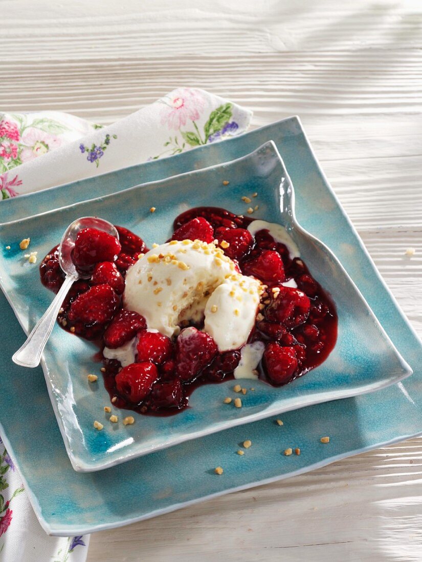
[{"label": "white-washed wooden table surface around the plates and napkin", "polygon": [[[0,108],[110,123],[178,85],[297,114],[422,334],[422,3],[0,0]],[[411,259],[407,247],[416,248]],[[422,560],[422,441],[96,533],[88,562]]]}]

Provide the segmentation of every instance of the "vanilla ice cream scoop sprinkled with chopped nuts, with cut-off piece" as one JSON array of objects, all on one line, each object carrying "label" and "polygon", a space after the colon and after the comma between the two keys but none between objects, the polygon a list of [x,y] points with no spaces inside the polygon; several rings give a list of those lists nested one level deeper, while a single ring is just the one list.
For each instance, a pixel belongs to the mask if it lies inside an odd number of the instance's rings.
[{"label": "vanilla ice cream scoop sprinkled with chopped nuts, with cut-off piece", "polygon": [[142,314],[149,328],[169,337],[179,333],[182,320],[205,316],[205,332],[219,351],[227,351],[248,340],[262,290],[213,243],[171,241],[128,269],[123,302]]}]

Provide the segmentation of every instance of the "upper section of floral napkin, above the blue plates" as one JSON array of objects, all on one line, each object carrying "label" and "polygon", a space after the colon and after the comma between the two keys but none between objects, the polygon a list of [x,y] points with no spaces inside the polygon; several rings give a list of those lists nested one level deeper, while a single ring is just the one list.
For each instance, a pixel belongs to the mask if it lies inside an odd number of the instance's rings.
[{"label": "upper section of floral napkin, above the blue plates", "polygon": [[53,111],[0,113],[2,199],[223,140],[244,132],[251,116],[192,88],[173,90],[105,127]]}]

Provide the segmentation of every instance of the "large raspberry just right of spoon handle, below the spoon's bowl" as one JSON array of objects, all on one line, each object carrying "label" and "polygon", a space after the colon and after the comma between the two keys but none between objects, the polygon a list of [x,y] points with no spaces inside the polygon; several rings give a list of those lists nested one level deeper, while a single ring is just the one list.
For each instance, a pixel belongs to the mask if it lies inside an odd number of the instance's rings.
[{"label": "large raspberry just right of spoon handle, below the spoon's bowl", "polygon": [[110,285],[95,285],[71,303],[68,320],[84,326],[104,325],[113,318],[119,304],[119,297]]}]

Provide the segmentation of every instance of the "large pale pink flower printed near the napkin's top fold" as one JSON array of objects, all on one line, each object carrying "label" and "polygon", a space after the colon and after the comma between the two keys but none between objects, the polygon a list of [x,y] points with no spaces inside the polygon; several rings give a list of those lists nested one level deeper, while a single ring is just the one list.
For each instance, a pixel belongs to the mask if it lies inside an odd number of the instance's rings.
[{"label": "large pale pink flower printed near the napkin's top fold", "polygon": [[205,99],[199,90],[177,88],[160,99],[161,125],[169,129],[180,129],[188,120],[196,121],[205,107]]}]

